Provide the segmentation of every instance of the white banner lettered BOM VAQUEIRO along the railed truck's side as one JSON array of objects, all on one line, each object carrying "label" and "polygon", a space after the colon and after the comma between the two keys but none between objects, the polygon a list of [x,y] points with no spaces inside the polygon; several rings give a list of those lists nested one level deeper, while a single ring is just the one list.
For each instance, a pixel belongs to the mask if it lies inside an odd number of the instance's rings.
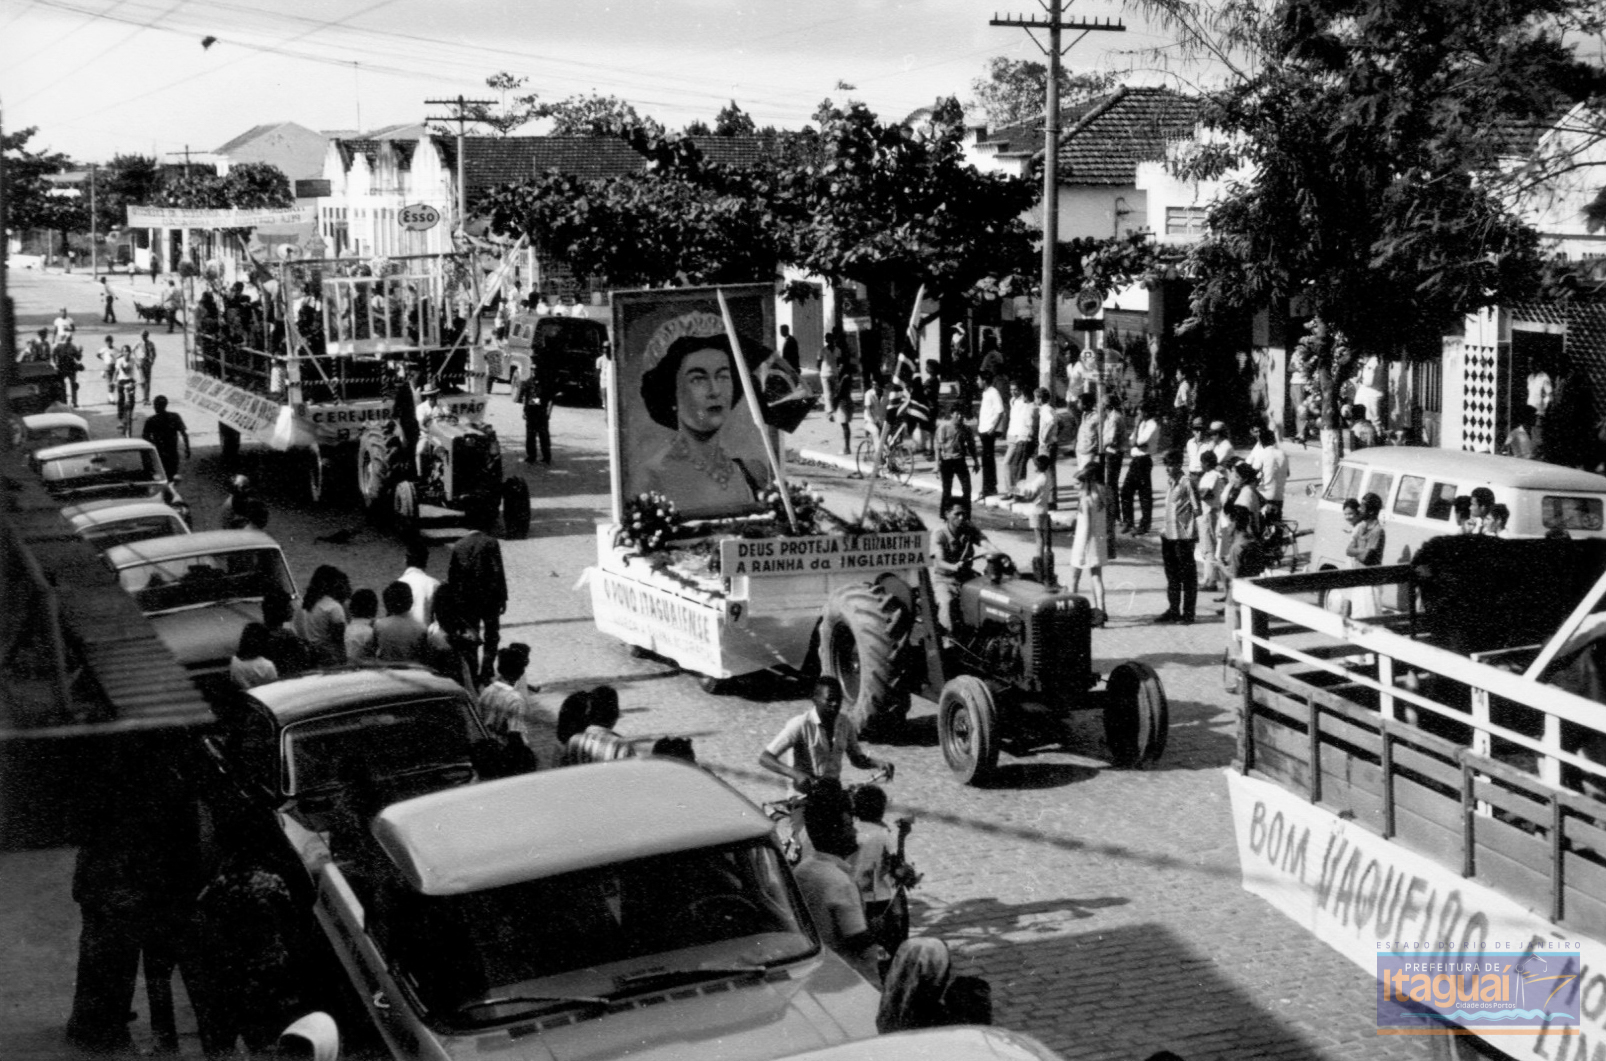
[{"label": "white banner lettered BOM VAQUEIRO along the railed truck's side", "polygon": [[[1445,1014],[1416,1019],[1413,1029],[1386,1027],[1380,1016],[1380,1035],[1442,1032],[1450,1021],[1514,1058],[1551,1061],[1588,1056],[1556,1035],[1606,1043],[1606,942],[1566,931],[1277,785],[1227,770],[1227,790],[1245,891],[1376,976],[1380,1014],[1386,1002]],[[1474,971],[1503,979],[1481,982]],[[1513,974],[1521,981],[1516,989],[1506,984]],[[1469,982],[1479,994],[1510,994],[1524,1013],[1513,1014],[1513,1006],[1489,1013],[1529,1018],[1532,1027],[1473,1016],[1476,1008],[1463,1005]],[[1564,1014],[1577,1016],[1559,1019]]]}]

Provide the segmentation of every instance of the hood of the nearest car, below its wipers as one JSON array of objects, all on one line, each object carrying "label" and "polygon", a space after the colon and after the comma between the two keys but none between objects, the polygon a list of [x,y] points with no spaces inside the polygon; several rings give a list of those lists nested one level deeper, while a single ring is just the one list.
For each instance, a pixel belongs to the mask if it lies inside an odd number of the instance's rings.
[{"label": "hood of the nearest car, below its wipers", "polygon": [[[695,994],[692,994],[695,992]],[[768,1061],[875,1035],[880,992],[832,953],[758,982],[642,995],[636,1008],[541,1027],[512,1022],[453,1040],[453,1058],[506,1061]]]}]

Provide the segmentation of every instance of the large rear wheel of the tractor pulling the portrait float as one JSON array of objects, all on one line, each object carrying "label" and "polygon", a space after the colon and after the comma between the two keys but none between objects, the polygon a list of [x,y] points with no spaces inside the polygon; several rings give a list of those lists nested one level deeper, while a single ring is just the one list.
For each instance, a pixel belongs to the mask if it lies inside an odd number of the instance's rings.
[{"label": "large rear wheel of the tractor pulling the portrait float", "polygon": [[899,685],[899,657],[912,616],[880,586],[843,586],[821,620],[824,673],[842,682],[842,703],[861,734],[896,726],[909,714]]}]

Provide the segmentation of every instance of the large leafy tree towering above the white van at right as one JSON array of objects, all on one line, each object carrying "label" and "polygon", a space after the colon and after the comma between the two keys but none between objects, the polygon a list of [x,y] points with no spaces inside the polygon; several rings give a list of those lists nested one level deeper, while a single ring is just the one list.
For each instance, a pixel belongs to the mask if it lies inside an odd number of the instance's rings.
[{"label": "large leafy tree towering above the white van at right", "polygon": [[1232,5],[1253,63],[1206,108],[1225,135],[1184,167],[1230,177],[1192,252],[1195,321],[1290,300],[1320,319],[1304,350],[1325,464],[1367,355],[1436,350],[1461,315],[1535,291],[1537,236],[1482,175],[1513,124],[1598,83],[1555,32],[1571,2]]}]

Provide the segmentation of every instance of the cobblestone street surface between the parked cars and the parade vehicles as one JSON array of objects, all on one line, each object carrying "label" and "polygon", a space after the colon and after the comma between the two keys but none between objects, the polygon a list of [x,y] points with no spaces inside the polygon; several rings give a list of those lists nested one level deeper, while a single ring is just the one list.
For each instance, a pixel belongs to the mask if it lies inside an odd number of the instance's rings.
[{"label": "cobblestone street surface between the parked cars and the parade vehicles", "polygon": [[[87,305],[92,291],[77,279],[27,278],[19,324],[34,327],[69,295]],[[162,347],[159,388],[181,390],[172,340]],[[222,498],[215,429],[178,408],[196,440],[186,493],[209,526]],[[90,413],[104,433],[106,408]],[[503,637],[535,645],[528,681],[541,685],[541,708],[551,716],[567,690],[610,681],[625,708],[622,732],[689,735],[699,759],[753,799],[779,796],[777,778],[758,769],[758,751],[805,708],[801,690],[761,681],[744,695],[710,697],[692,677],[631,658],[597,634],[577,579],[594,560],[594,523],[607,515],[602,413],[557,409],[551,469],[516,462],[516,413],[506,393],[491,400],[507,469],[528,480],[536,504],[530,538],[504,544],[514,599]],[[821,448],[829,429],[814,417],[790,446]],[[275,454],[247,456],[267,485],[271,531],[297,579],[320,562],[347,570],[355,586],[395,576],[402,555],[393,539],[350,507],[312,510],[294,501]],[[1315,475],[1315,454],[1296,449],[1293,457],[1290,493],[1301,494]],[[793,474],[816,483],[832,507],[862,502],[864,483],[840,469],[800,461]],[[933,494],[895,488],[890,496],[935,520]],[[1301,504],[1310,502],[1291,498],[1296,518]],[[1020,518],[988,510],[978,520],[1001,546],[1026,555]],[[349,535],[326,541],[336,531]],[[1188,1061],[1436,1056],[1431,1039],[1380,1039],[1373,979],[1241,891],[1222,777],[1233,756],[1235,703],[1224,690],[1222,628],[1147,624],[1164,607],[1158,554],[1153,539],[1129,541],[1107,570],[1110,626],[1094,632],[1095,666],[1142,658],[1160,671],[1172,726],[1164,759],[1152,769],[1107,769],[1102,724],[1090,713],[1074,721],[1063,748],[1005,758],[996,787],[965,788],[936,748],[931,705],[917,701],[906,732],[875,751],[899,767],[890,785],[893,814],[915,819],[909,854],[925,875],[912,892],[915,931],[951,941],[964,971],[993,981],[1001,1026],[1031,1032],[1074,1061],[1140,1059],[1161,1048]],[[438,551],[435,565],[445,567]],[[1201,612],[1209,607],[1206,596]],[[549,743],[541,748],[543,762],[552,756]],[[71,867],[71,852],[59,851],[0,859],[3,1058],[61,1056],[77,931]],[[193,1035],[185,1053],[196,1053]]]}]

